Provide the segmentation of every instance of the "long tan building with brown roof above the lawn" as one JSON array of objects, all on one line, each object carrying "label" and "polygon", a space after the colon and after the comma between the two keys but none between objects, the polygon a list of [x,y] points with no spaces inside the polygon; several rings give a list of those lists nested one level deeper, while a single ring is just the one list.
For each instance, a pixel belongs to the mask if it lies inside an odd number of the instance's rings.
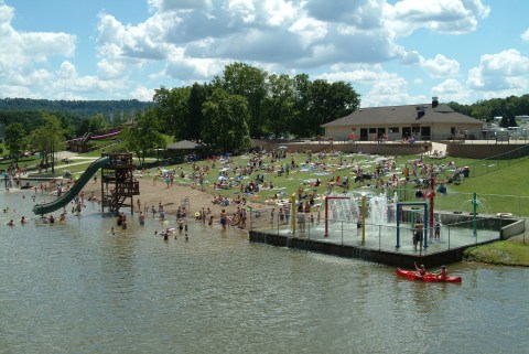
[{"label": "long tan building with brown roof above the lawn", "polygon": [[431,104],[360,108],[322,126],[335,140],[479,139],[483,121],[458,114],[433,97]]}]

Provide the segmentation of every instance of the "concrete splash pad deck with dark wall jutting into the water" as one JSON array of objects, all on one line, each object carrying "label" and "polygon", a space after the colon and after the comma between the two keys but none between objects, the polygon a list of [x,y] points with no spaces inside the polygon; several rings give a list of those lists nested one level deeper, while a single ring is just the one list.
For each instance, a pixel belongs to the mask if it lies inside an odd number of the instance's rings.
[{"label": "concrete splash pad deck with dark wall jutting into the water", "polygon": [[418,247],[417,250],[413,249],[411,224],[407,223],[400,223],[400,247],[396,247],[396,224],[366,225],[363,245],[361,228],[358,228],[357,224],[333,221],[330,221],[328,236],[325,236],[325,223],[322,221],[320,225],[307,223],[303,232],[298,228],[295,234],[290,225],[252,227],[249,239],[253,243],[359,258],[388,266],[412,267],[417,261],[435,267],[461,261],[464,249],[468,247],[499,240],[501,227],[516,222],[497,218],[496,215],[481,215],[479,227],[474,235],[473,217],[455,217],[463,219],[441,226],[440,238],[428,236],[428,247]]}]

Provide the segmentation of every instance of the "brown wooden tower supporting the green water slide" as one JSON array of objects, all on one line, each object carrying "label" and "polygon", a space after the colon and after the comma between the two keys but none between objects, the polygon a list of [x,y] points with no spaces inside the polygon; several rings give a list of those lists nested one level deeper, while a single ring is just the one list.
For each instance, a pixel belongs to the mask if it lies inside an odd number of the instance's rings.
[{"label": "brown wooden tower supporting the green water slide", "polygon": [[101,169],[101,212],[108,207],[110,213],[117,214],[120,207],[130,206],[134,213],[134,195],[140,195],[140,182],[136,181],[132,172],[134,165],[132,153],[105,153],[110,159]]}]

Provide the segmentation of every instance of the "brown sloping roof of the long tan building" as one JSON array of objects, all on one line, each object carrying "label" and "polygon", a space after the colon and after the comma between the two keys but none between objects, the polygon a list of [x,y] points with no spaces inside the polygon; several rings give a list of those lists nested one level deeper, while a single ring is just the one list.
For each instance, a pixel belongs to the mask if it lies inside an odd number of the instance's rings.
[{"label": "brown sloping roof of the long tan building", "polygon": [[[421,112],[421,114],[420,114]],[[422,114],[423,112],[423,114]],[[348,116],[324,124],[323,128],[350,126],[390,125],[431,125],[431,124],[471,124],[483,121],[458,114],[446,104],[439,104],[432,108],[431,104],[370,107],[355,110]]]}]

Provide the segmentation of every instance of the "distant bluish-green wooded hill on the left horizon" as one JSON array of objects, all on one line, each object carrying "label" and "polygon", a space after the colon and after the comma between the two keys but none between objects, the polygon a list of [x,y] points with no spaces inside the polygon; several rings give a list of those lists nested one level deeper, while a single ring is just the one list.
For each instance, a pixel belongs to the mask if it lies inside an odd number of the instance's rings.
[{"label": "distant bluish-green wooded hill on the left horizon", "polygon": [[153,107],[150,101],[128,100],[50,100],[31,98],[1,98],[0,111],[50,111],[64,112],[78,117],[105,117],[122,112],[141,111]]}]

